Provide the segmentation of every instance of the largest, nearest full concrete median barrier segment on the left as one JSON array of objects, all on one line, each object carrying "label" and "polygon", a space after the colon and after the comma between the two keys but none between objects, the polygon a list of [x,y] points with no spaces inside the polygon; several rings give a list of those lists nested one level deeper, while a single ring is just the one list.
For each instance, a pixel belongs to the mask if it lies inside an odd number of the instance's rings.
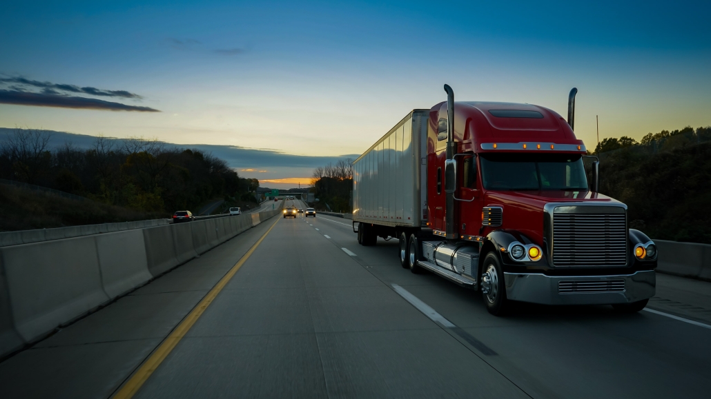
[{"label": "largest, nearest full concrete median barrier segment on the left", "polygon": [[94,237],[0,248],[16,331],[25,341],[52,332],[109,300]]}]

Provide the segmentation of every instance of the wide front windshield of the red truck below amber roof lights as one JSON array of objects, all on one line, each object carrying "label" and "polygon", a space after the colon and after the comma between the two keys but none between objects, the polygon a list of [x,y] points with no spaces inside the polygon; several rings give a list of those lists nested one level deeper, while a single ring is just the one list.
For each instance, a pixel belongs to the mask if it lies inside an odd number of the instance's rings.
[{"label": "wide front windshield of the red truck below amber roof lights", "polygon": [[487,190],[588,189],[578,154],[482,154],[481,179]]}]

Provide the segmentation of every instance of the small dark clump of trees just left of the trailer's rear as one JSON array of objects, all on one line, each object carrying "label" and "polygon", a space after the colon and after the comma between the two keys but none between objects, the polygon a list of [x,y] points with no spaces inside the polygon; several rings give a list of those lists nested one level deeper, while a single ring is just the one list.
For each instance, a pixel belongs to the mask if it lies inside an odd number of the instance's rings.
[{"label": "small dark clump of trees just left of the trailer's rear", "polygon": [[351,212],[351,190],[353,190],[353,159],[338,160],[314,169],[311,179],[312,190],[319,199],[316,207],[324,209],[326,204],[335,212]]}]

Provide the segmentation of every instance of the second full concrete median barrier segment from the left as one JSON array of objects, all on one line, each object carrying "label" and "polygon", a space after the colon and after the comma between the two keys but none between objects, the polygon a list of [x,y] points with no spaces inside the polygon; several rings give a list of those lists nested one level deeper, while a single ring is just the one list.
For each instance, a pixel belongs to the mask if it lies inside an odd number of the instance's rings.
[{"label": "second full concrete median barrier segment from the left", "polygon": [[95,236],[104,291],[114,299],[153,278],[148,271],[146,244],[140,230]]}]

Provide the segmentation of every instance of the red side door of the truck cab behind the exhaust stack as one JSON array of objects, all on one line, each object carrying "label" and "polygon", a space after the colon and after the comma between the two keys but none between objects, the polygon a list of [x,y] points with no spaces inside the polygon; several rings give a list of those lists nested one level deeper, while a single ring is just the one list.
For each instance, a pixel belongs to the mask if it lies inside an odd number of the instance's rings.
[{"label": "red side door of the truck cab behind the exhaust stack", "polygon": [[[483,207],[483,195],[481,195],[481,182],[479,181],[478,159],[476,154],[467,154],[461,157],[461,189],[456,193],[456,197],[461,201],[455,201],[457,213],[459,215],[459,235],[479,236],[481,230],[481,208]],[[466,238],[466,237],[465,237]]]}]

